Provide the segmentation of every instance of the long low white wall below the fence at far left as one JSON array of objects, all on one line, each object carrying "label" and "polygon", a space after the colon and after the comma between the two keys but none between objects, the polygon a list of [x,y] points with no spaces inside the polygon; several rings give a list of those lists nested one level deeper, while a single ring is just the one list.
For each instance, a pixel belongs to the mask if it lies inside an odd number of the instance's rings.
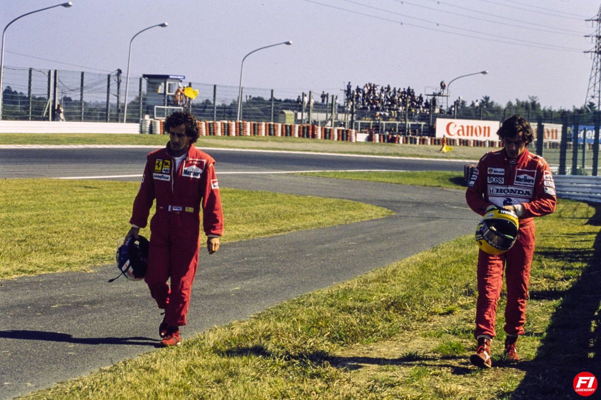
[{"label": "long low white wall below the fence at far left", "polygon": [[0,121],[0,133],[140,133],[139,124]]}]

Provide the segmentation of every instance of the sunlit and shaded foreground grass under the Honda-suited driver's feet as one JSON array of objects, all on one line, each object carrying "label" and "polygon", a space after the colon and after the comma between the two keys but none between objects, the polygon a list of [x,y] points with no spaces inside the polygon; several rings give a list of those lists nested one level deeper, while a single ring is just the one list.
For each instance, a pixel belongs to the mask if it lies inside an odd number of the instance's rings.
[{"label": "sunlit and shaded foreground grass under the Honda-suited driver's feet", "polygon": [[495,368],[468,363],[477,251],[469,235],[26,398],[576,398],[573,377],[601,365],[599,211],[561,201],[537,219],[517,365],[499,360],[504,294]]}]

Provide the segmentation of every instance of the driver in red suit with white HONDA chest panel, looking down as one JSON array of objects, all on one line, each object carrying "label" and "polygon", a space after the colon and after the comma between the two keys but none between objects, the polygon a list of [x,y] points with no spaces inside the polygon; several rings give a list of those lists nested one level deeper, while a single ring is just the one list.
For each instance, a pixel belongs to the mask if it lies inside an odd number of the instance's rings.
[{"label": "driver in red suit with white HONDA chest panel, looking down", "polygon": [[549,165],[526,149],[533,136],[528,121],[513,115],[502,123],[497,134],[504,148],[484,154],[465,193],[469,207],[480,215],[496,207],[514,211],[519,217],[519,231],[513,247],[499,255],[490,255],[483,250],[478,252],[474,332],[478,350],[472,355],[471,362],[483,368],[492,365],[490,341],[496,335],[496,308],[504,268],[507,283],[504,356],[510,361],[519,360],[516,342],[517,337],[523,335],[526,322],[526,298],[535,241],[534,217],[554,212],[557,201]]}]

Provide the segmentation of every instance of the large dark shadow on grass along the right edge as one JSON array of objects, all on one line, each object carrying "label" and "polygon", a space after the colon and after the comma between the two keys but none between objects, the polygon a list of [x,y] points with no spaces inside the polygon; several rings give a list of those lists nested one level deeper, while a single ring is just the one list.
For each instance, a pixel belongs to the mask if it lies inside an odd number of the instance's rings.
[{"label": "large dark shadow on grass along the right edge", "polygon": [[[590,225],[601,225],[601,205],[591,205],[595,214]],[[578,255],[574,254],[576,258]],[[511,399],[564,399],[579,397],[573,379],[588,371],[601,377],[601,233],[593,244],[582,276],[564,292],[561,306],[550,316],[551,323],[534,360],[520,362],[514,368],[526,372]],[[566,264],[570,259],[566,259]],[[538,292],[537,298],[558,293]]]}]

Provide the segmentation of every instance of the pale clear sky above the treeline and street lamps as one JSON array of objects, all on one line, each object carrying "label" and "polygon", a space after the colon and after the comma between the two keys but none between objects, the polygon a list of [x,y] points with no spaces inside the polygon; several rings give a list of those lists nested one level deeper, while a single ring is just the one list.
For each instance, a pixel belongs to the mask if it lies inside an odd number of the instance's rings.
[{"label": "pale clear sky above the treeline and street lamps", "polygon": [[[2,0],[0,27],[52,0]],[[601,0],[72,0],[14,22],[4,65],[341,94],[373,82],[496,103],[538,97],[571,109],[587,96]],[[3,28],[4,29],[4,28]]]}]

